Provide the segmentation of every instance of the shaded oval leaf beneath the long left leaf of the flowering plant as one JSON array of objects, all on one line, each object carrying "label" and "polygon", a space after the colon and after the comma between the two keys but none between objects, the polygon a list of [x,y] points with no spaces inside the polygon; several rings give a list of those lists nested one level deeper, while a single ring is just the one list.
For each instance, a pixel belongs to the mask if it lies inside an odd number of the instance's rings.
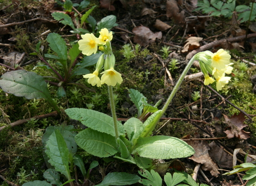
[{"label": "shaded oval leaf beneath the long left leaf of the flowering plant", "polygon": [[117,153],[115,137],[90,128],[79,132],[75,141],[79,147],[94,156],[108,157]]}]

